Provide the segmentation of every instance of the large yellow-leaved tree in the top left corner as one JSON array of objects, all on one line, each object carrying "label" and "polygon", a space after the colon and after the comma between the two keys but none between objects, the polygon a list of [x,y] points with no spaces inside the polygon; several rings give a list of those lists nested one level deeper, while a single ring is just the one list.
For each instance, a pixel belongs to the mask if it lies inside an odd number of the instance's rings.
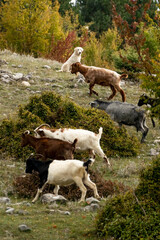
[{"label": "large yellow-leaved tree in the top left corner", "polygon": [[7,1],[0,8],[1,41],[19,53],[34,56],[46,53],[52,35],[56,36],[55,39],[63,36],[58,10],[58,3],[52,7],[50,0]]}]

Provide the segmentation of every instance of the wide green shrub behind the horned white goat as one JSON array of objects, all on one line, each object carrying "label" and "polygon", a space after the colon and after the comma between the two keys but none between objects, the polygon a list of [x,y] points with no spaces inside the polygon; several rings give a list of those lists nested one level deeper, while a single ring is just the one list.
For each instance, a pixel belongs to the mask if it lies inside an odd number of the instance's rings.
[{"label": "wide green shrub behind the horned white goat", "polygon": [[[139,150],[137,138],[130,137],[125,128],[115,127],[107,114],[97,109],[82,108],[68,98],[45,92],[30,98],[25,106],[20,106],[17,120],[2,122],[1,151],[26,159],[33,149],[21,148],[21,134],[25,130],[34,130],[42,123],[48,123],[54,128],[83,128],[95,133],[102,126],[101,145],[107,156],[135,156]],[[87,155],[82,153],[82,156]]]}]

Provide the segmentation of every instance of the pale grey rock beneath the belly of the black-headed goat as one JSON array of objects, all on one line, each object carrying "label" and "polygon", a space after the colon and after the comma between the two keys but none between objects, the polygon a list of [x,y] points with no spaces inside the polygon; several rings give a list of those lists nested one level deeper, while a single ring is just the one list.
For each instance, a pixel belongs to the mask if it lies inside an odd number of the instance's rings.
[{"label": "pale grey rock beneath the belly of the black-headed goat", "polygon": [[53,202],[66,203],[67,199],[61,195],[56,196],[52,193],[46,193],[42,195],[41,202],[42,203],[53,203]]}]

